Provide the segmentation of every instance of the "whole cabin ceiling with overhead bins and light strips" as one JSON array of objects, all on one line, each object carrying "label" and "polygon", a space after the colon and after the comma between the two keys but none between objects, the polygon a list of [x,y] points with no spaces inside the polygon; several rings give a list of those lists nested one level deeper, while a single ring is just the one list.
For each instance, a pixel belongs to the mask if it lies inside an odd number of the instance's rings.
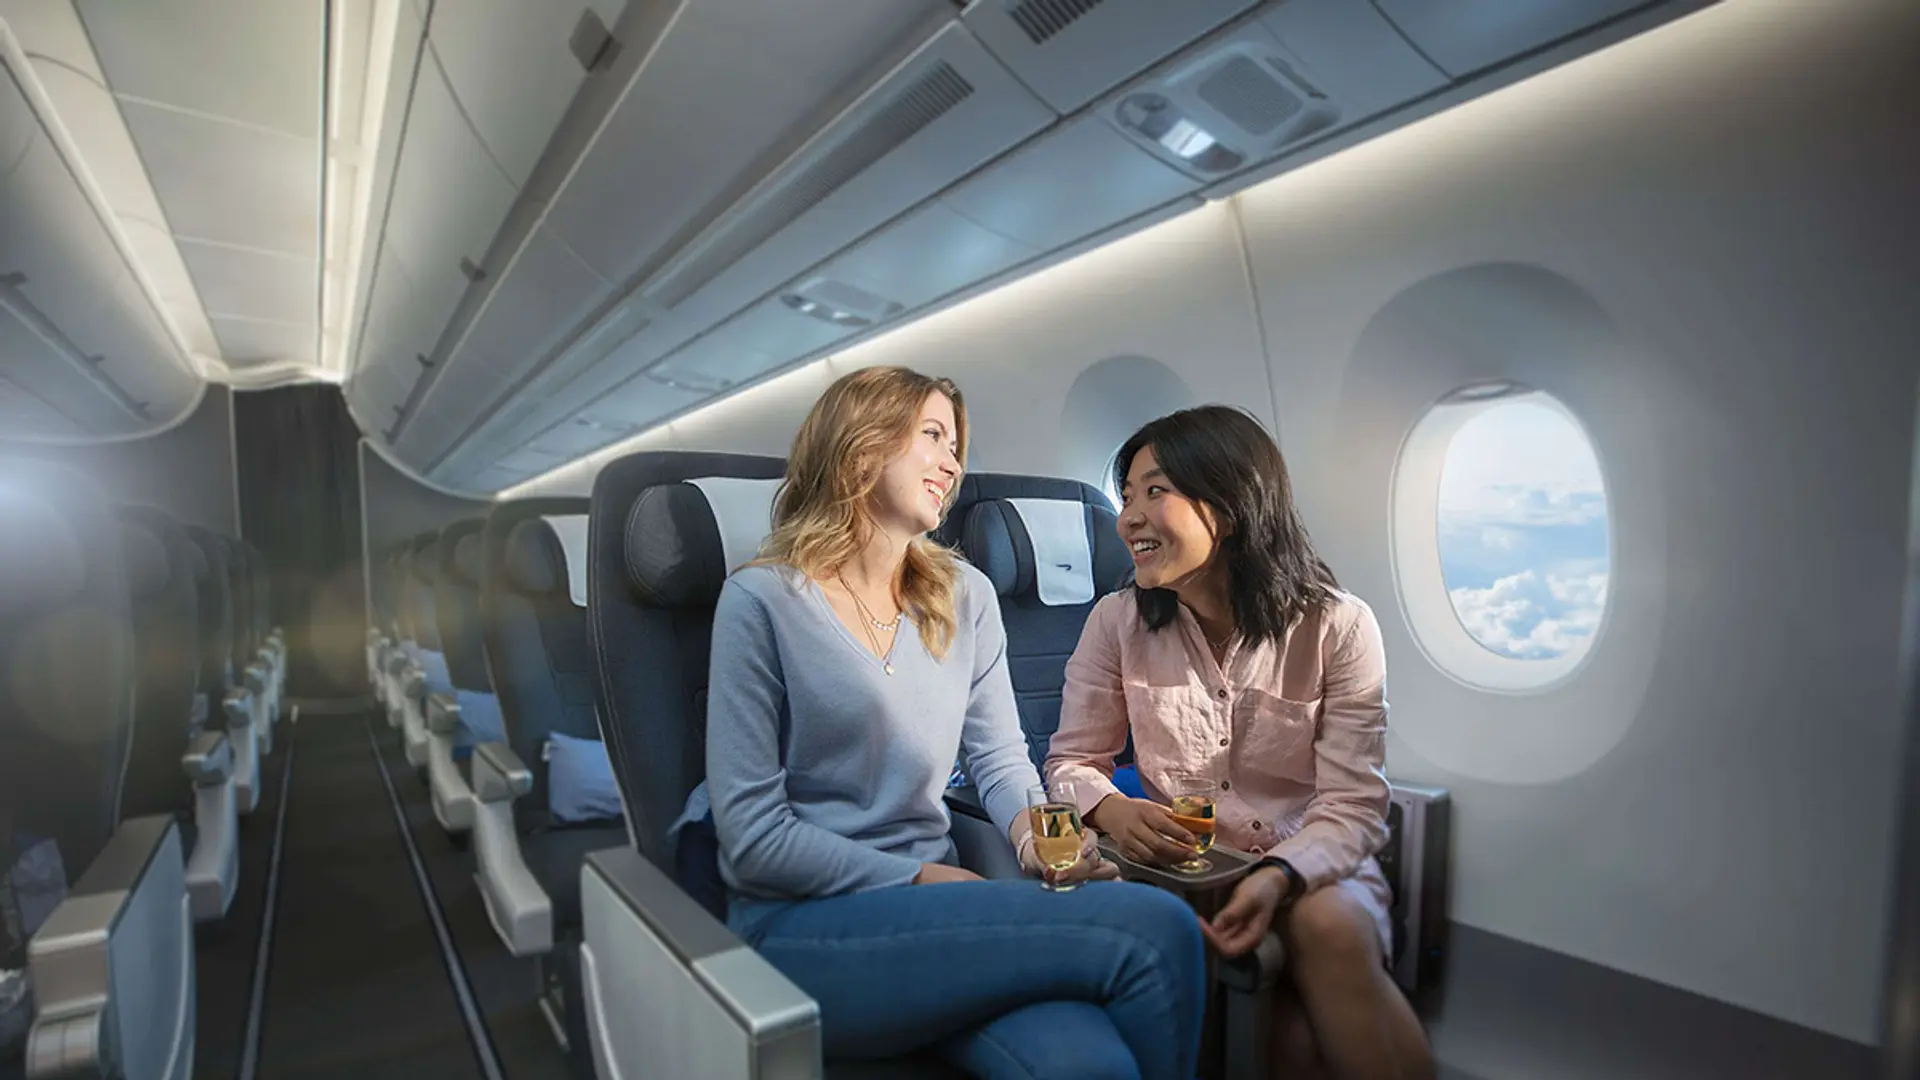
[{"label": "whole cabin ceiling with overhead bins and light strips", "polygon": [[0,0],[48,146],[0,242],[100,219],[0,265],[52,342],[0,400],[123,434],[324,379],[499,492],[1707,2]]}]

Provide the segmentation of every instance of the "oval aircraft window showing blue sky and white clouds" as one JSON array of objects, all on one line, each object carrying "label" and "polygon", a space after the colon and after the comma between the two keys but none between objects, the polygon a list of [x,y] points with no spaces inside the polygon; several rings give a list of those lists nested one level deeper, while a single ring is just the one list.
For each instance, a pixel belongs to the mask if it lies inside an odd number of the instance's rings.
[{"label": "oval aircraft window showing blue sky and white clouds", "polygon": [[1453,619],[1478,646],[1436,650],[1457,634],[1415,626],[1428,655],[1501,690],[1569,675],[1599,632],[1613,569],[1607,488],[1580,423],[1538,390],[1475,386],[1428,409],[1407,446],[1440,455],[1432,542]]}]

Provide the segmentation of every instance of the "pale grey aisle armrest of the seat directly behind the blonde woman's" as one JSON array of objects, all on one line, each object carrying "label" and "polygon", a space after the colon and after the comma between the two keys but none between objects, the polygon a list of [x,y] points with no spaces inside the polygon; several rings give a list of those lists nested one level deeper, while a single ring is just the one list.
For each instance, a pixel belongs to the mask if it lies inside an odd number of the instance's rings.
[{"label": "pale grey aisle armrest of the seat directly behind the blonde woman's", "polygon": [[480,901],[507,951],[532,957],[553,949],[553,897],[526,869],[513,801],[534,790],[534,771],[505,742],[482,742],[472,755],[474,863]]}]

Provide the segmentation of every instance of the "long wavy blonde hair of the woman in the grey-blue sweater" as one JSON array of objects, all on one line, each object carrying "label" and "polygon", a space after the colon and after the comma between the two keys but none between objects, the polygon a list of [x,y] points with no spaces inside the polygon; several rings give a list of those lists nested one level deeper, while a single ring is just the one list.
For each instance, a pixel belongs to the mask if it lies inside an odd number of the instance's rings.
[{"label": "long wavy blonde hair of the woman in the grey-blue sweater", "polygon": [[[954,457],[966,469],[966,400],[950,379],[906,367],[868,367],[843,375],[814,402],[793,452],[787,479],[774,496],[774,532],[760,546],[760,565],[787,565],[814,580],[839,573],[874,536],[870,502],[879,475],[900,455],[931,394],[954,407]],[[952,509],[960,482],[947,492],[941,517]],[[906,565],[895,598],[920,628],[933,659],[952,646],[954,590],[960,563],[927,536],[906,546]]]}]

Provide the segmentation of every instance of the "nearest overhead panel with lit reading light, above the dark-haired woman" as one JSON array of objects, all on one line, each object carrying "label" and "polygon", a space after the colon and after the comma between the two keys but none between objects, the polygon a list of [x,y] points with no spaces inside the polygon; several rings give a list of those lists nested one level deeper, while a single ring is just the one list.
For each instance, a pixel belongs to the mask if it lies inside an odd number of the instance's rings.
[{"label": "nearest overhead panel with lit reading light, above the dark-haired woman", "polygon": [[1116,90],[1098,111],[1212,183],[1446,85],[1373,6],[1286,0]]}]

